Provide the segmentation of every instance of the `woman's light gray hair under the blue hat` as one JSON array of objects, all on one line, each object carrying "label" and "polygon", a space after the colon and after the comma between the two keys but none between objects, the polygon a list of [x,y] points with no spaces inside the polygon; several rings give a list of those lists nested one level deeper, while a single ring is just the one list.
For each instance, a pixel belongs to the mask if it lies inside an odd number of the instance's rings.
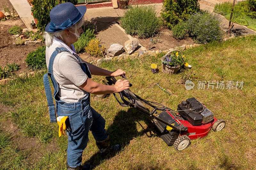
[{"label": "woman's light gray hair under the blue hat", "polygon": [[[86,17],[84,16],[83,18],[81,18],[75,25],[69,27],[70,29],[74,29],[75,32],[73,33],[77,38],[79,38],[79,33],[78,33],[78,29],[84,25],[86,21]],[[70,32],[72,33],[72,32]],[[53,40],[53,36],[55,36],[56,38],[63,40],[62,35],[64,34],[64,30],[57,32],[57,33],[47,33],[46,31],[44,32],[44,39],[45,39],[45,45],[46,47],[50,47],[52,45],[52,40]]]}]

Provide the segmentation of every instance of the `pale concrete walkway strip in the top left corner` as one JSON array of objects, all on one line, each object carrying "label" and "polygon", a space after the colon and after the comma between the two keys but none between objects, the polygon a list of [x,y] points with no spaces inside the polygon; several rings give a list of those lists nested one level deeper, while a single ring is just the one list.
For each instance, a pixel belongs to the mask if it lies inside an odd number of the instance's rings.
[{"label": "pale concrete walkway strip in the top left corner", "polygon": [[17,11],[21,20],[27,26],[28,30],[33,30],[30,27],[30,23],[34,20],[34,17],[31,15],[31,6],[28,4],[27,0],[9,0],[12,3],[12,6]]}]

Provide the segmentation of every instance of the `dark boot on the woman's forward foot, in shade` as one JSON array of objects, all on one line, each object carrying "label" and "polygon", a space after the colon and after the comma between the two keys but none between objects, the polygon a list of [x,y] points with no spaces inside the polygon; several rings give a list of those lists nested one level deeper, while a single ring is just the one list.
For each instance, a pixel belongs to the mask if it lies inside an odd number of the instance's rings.
[{"label": "dark boot on the woman's forward foot, in shade", "polygon": [[100,149],[100,153],[109,153],[121,149],[120,144],[110,146],[109,135],[107,139],[103,141],[96,141],[96,145]]}]

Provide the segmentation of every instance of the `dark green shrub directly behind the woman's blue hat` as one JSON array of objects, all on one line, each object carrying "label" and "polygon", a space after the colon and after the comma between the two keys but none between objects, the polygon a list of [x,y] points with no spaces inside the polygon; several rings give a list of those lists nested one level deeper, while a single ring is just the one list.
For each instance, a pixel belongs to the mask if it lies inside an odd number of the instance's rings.
[{"label": "dark green shrub directly behind the woman's blue hat", "polygon": [[37,19],[37,29],[44,31],[45,26],[51,21],[49,14],[52,8],[64,2],[77,4],[77,0],[33,0],[31,11],[33,17]]}]

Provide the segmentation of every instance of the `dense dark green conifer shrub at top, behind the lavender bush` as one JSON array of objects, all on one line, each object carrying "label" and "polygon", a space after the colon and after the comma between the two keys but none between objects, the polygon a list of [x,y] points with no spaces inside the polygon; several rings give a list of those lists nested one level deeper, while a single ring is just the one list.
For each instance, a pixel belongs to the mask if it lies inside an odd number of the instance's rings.
[{"label": "dense dark green conifer shrub at top, behind the lavender bush", "polygon": [[191,14],[200,10],[198,0],[164,0],[162,12],[163,23],[166,27],[186,20]]}]

